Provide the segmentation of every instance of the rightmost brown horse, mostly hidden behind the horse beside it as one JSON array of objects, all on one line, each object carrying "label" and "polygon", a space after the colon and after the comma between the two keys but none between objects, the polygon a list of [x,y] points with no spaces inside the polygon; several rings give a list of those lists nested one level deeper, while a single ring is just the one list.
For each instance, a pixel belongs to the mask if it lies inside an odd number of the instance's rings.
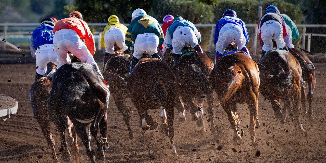
[{"label": "rightmost brown horse, mostly hidden behind the horse beside it", "polygon": [[[301,104],[304,107],[303,109],[307,113],[309,119],[311,121],[314,121],[314,117],[312,116],[313,111],[311,109],[311,104],[312,104],[313,92],[316,84],[315,67],[313,63],[310,61],[310,59],[300,50],[291,48],[290,52],[293,54],[293,56],[296,56],[296,54],[298,54],[302,59],[304,59],[304,62],[300,62],[300,59],[298,59],[298,61],[302,68],[302,79],[308,85],[308,95],[305,94],[305,88],[304,88],[305,84],[301,83]],[[309,110],[307,110],[306,108],[306,100],[308,101],[309,104]]]}]

